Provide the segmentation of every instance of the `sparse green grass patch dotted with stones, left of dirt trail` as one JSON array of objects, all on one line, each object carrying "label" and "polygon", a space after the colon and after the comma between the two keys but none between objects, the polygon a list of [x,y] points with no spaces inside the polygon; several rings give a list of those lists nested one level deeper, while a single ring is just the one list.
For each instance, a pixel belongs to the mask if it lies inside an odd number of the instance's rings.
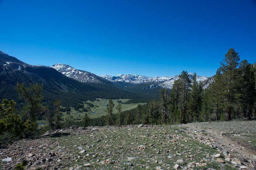
[{"label": "sparse green grass patch dotted with stones, left of dirt trail", "polygon": [[[84,164],[91,163],[91,167],[96,169],[131,169],[132,167],[155,169],[156,166],[166,169],[172,168],[178,159],[183,159],[184,162],[180,163],[180,166],[196,161],[204,162],[205,164],[202,166],[220,169],[218,163],[206,160],[211,158],[210,155],[218,153],[216,150],[193,140],[182,130],[170,126],[103,128],[91,135],[52,138],[52,142],[59,143],[60,148],[65,147],[68,155],[72,154],[79,158],[71,164],[65,160],[62,162],[64,166],[69,167],[84,167]],[[79,153],[78,146],[81,146],[86,152]],[[86,156],[87,153],[91,154]],[[168,158],[169,154],[171,157]],[[135,159],[129,160],[128,157]],[[99,162],[106,160],[108,160],[106,165],[99,165]]]}]

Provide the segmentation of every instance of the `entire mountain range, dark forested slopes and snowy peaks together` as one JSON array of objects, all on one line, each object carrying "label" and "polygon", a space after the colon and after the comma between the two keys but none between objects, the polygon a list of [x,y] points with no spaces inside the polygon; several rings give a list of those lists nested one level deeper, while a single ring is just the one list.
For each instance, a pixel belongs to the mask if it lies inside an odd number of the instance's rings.
[{"label": "entire mountain range, dark forested slopes and snowy peaks together", "polygon": [[[78,70],[64,64],[53,66],[29,65],[0,51],[0,100],[3,98],[19,101],[16,83],[44,83],[44,102],[61,99],[63,106],[72,106],[81,101],[95,98],[130,98],[148,101],[159,98],[159,89],[171,89],[179,75],[147,77],[135,74],[117,76],[100,75]],[[189,73],[193,77],[193,73]],[[204,87],[212,78],[197,76]]]}]

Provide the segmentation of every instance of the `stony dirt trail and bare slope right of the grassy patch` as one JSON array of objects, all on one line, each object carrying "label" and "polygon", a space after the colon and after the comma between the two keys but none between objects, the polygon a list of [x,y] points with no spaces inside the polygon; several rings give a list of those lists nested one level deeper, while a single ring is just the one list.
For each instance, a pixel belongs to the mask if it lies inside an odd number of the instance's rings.
[{"label": "stony dirt trail and bare slope right of the grassy patch", "polygon": [[244,165],[255,169],[256,165],[256,121],[214,121],[178,125],[197,135],[197,140],[209,139],[220,143],[220,151],[228,151],[232,158],[245,160]]}]

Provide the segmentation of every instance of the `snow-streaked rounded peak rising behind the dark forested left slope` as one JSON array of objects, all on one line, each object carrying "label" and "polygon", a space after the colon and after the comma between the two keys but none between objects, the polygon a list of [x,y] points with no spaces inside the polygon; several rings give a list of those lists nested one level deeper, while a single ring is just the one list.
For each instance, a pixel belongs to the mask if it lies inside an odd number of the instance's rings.
[{"label": "snow-streaked rounded peak rising behind the dark forested left slope", "polygon": [[94,82],[94,83],[102,83],[105,80],[102,79],[101,77],[87,72],[87,71],[83,71],[83,70],[77,70],[71,66],[68,66],[66,64],[60,64],[57,63],[53,66],[50,66],[52,68],[54,68],[55,70],[57,70],[58,72],[66,75],[69,78],[75,79],[77,81],[81,81],[81,82]]}]

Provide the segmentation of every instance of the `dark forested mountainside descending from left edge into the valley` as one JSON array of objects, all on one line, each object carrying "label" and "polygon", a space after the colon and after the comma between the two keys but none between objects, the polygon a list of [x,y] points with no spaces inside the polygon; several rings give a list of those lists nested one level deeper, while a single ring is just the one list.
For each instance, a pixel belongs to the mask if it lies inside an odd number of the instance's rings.
[{"label": "dark forested mountainside descending from left edge into the valley", "polygon": [[114,86],[110,81],[101,80],[101,83],[79,82],[51,67],[29,65],[0,51],[0,100],[7,98],[13,99],[17,104],[22,103],[15,90],[16,83],[22,82],[25,82],[26,86],[29,83],[43,83],[43,102],[51,104],[60,99],[64,107],[96,98],[153,98],[150,94],[133,93]]}]

